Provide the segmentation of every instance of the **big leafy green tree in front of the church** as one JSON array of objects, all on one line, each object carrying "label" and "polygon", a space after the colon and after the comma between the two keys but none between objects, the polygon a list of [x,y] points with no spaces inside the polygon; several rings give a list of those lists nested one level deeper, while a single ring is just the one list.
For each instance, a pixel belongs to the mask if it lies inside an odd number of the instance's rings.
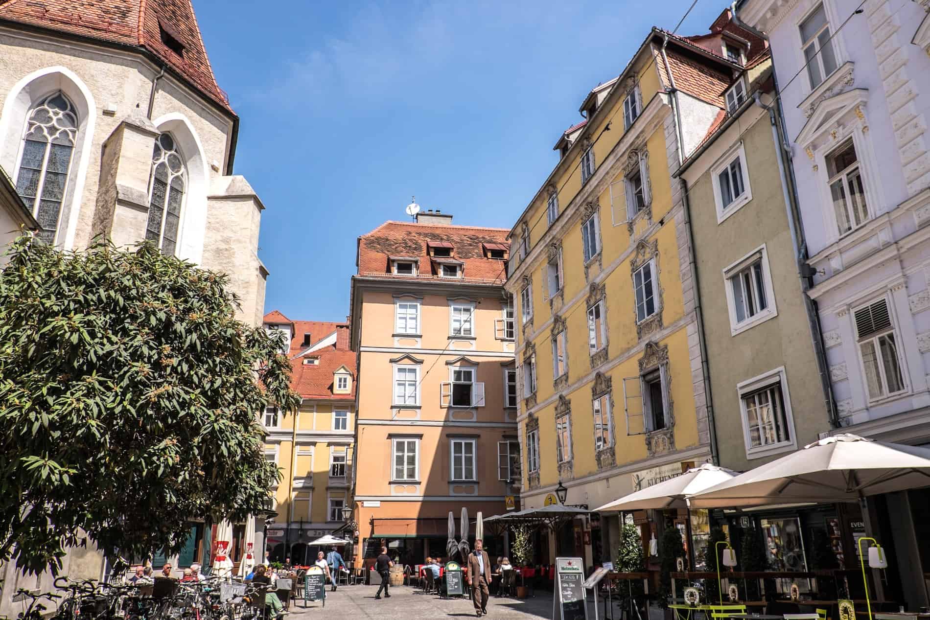
[{"label": "big leafy green tree in front of the church", "polygon": [[185,521],[245,519],[278,478],[259,412],[292,410],[282,341],[236,321],[227,278],[152,244],[59,252],[23,237],[0,274],[0,561],[67,547],[178,552]]}]

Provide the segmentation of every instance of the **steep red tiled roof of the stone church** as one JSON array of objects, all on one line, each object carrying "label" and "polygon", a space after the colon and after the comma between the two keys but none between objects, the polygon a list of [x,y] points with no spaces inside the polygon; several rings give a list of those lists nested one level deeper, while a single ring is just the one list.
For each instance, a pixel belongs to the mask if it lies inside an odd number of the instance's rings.
[{"label": "steep red tiled roof of the stone church", "polygon": [[[0,20],[140,47],[234,114],[206,57],[191,0],[0,0]],[[180,56],[162,43],[161,28],[183,46]]]}]

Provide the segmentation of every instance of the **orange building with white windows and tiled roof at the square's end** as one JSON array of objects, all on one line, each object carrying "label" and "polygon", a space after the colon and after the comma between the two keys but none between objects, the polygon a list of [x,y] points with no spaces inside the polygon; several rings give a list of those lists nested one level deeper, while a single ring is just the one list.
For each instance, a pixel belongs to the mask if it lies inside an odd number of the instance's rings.
[{"label": "orange building with white windows and tiled roof at the square's end", "polygon": [[381,544],[404,564],[445,559],[450,511],[458,526],[461,508],[500,514],[519,493],[507,231],[451,220],[421,213],[358,239],[359,564]]}]

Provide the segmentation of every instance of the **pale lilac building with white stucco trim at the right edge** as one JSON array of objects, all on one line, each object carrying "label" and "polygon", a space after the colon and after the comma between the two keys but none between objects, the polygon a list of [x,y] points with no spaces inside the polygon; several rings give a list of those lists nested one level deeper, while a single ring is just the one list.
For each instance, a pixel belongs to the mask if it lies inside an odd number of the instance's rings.
[{"label": "pale lilac building with white stucco trim at the right edge", "polygon": [[908,443],[930,442],[928,10],[930,0],[738,7],[772,47],[834,429]]}]

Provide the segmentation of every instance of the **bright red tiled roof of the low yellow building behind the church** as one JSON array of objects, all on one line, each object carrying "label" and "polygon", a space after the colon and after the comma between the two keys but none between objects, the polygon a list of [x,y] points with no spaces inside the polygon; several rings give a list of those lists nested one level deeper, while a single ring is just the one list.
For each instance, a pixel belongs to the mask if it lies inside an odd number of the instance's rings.
[{"label": "bright red tiled roof of the low yellow building behind the church", "polygon": [[[264,323],[293,323],[294,337],[291,338],[291,388],[305,399],[331,399],[352,401],[355,398],[355,352],[349,348],[349,323],[332,323],[327,321],[290,321],[278,310],[265,315]],[[304,350],[332,336],[336,332],[336,342],[310,353],[301,355]],[[310,334],[310,347],[303,345],[303,335]],[[319,363],[306,364],[304,360],[316,358]],[[348,394],[334,394],[333,373],[345,366],[352,373],[352,391]]]}]

